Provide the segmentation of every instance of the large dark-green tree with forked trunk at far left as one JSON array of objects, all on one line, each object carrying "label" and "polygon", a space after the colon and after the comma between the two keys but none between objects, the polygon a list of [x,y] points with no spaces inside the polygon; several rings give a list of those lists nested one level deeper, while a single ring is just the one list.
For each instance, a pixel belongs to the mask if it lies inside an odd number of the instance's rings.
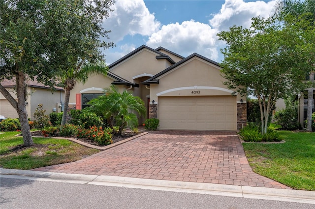
[{"label": "large dark-green tree with forked trunk at far left", "polygon": [[16,109],[24,145],[32,145],[25,108],[27,80],[54,87],[63,71],[104,60],[113,46],[102,22],[113,0],[1,0],[0,81],[16,81],[17,101],[0,85]]}]

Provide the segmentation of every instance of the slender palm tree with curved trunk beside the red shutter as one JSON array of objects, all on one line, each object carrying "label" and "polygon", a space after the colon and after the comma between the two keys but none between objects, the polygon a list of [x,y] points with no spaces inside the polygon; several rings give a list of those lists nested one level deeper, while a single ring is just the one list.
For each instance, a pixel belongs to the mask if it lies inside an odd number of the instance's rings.
[{"label": "slender palm tree with curved trunk beside the red shutter", "polygon": [[67,71],[63,71],[61,77],[61,81],[63,83],[63,88],[65,90],[64,94],[64,110],[63,110],[63,119],[61,122],[61,127],[65,125],[66,116],[68,112],[69,98],[70,92],[76,85],[76,82],[85,84],[88,78],[93,74],[107,74],[108,67],[105,63],[99,64],[84,64],[82,62],[76,67],[71,68]]}]

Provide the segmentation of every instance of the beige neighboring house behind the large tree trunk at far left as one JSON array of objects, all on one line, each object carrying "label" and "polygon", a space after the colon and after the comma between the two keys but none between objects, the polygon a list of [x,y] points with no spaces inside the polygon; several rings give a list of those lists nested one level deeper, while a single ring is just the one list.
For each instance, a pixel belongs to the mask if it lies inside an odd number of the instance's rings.
[{"label": "beige neighboring house behind the large tree trunk at far left", "polygon": [[[1,85],[8,90],[11,95],[17,99],[14,91],[15,81],[4,80]],[[26,101],[26,110],[28,112],[28,118],[34,119],[33,115],[39,104],[43,104],[43,109],[46,110],[45,114],[49,115],[52,112],[61,112],[62,100],[64,98],[63,88],[56,88],[56,91],[52,93],[49,87],[45,87],[43,84],[36,81],[29,81],[27,86],[28,97]],[[16,110],[8,102],[8,100],[0,93],[0,115],[7,118],[18,118]]]}]

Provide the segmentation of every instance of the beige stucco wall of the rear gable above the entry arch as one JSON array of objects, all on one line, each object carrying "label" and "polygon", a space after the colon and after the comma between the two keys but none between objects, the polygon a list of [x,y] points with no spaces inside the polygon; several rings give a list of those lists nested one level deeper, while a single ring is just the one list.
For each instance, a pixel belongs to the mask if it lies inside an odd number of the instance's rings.
[{"label": "beige stucco wall of the rear gable above the entry arch", "polygon": [[170,66],[167,60],[157,60],[156,56],[159,56],[159,54],[144,48],[112,67],[110,71],[130,82],[133,82],[135,76],[145,76],[143,74],[156,75]]}]

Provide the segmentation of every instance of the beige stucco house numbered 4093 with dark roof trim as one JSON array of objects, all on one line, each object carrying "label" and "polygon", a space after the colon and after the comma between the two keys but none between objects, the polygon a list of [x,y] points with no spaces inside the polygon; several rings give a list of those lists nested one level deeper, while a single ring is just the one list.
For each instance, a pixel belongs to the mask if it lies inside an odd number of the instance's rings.
[{"label": "beige stucco house numbered 4093 with dark roof trim", "polygon": [[196,53],[185,58],[162,47],[140,46],[71,90],[69,109],[82,109],[111,84],[144,101],[159,129],[236,131],[246,125],[246,97],[232,95],[220,66]]}]

